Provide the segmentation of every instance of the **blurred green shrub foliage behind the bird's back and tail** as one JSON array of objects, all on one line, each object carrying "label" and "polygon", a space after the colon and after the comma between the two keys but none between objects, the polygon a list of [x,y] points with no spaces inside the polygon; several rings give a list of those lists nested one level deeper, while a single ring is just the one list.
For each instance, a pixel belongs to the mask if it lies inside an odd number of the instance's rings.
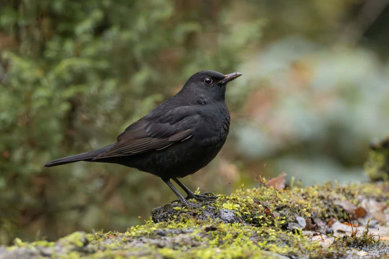
[{"label": "blurred green shrub foliage behind the bird's back and tail", "polygon": [[125,229],[173,198],[164,197],[167,188],[148,188],[162,183],[133,169],[42,164],[112,143],[196,71],[232,71],[237,51],[258,40],[261,20],[232,23],[224,5],[1,3],[1,37],[9,45],[1,56],[0,243],[15,235]]}]

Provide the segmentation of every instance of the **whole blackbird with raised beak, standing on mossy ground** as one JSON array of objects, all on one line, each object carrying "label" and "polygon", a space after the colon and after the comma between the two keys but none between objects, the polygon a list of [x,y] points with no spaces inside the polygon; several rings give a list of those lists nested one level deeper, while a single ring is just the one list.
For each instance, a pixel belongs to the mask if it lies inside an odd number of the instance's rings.
[{"label": "whole blackbird with raised beak, standing on mossy ground", "polygon": [[230,113],[224,101],[226,85],[241,75],[200,71],[175,96],[128,126],[115,143],[44,166],[77,161],[117,163],[161,177],[183,205],[194,206],[180,195],[170,179],[187,193],[187,198],[215,198],[195,195],[177,178],[202,169],[222,148],[230,127]]}]

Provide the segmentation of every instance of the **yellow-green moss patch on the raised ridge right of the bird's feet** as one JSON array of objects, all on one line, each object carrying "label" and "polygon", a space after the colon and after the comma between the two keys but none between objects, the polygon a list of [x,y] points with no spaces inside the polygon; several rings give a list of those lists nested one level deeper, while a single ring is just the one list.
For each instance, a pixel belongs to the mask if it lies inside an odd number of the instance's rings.
[{"label": "yellow-green moss patch on the raised ridge right of the bird's feet", "polygon": [[274,227],[293,222],[298,216],[308,219],[312,215],[322,220],[333,216],[342,221],[347,220],[348,216],[342,207],[336,205],[337,200],[347,200],[354,205],[357,205],[359,195],[385,200],[388,198],[388,193],[383,193],[382,190],[387,188],[387,183],[349,186],[325,184],[305,189],[295,187],[283,190],[260,186],[253,189],[239,189],[230,196],[220,195],[215,207],[233,209],[244,222],[256,226]]}]

